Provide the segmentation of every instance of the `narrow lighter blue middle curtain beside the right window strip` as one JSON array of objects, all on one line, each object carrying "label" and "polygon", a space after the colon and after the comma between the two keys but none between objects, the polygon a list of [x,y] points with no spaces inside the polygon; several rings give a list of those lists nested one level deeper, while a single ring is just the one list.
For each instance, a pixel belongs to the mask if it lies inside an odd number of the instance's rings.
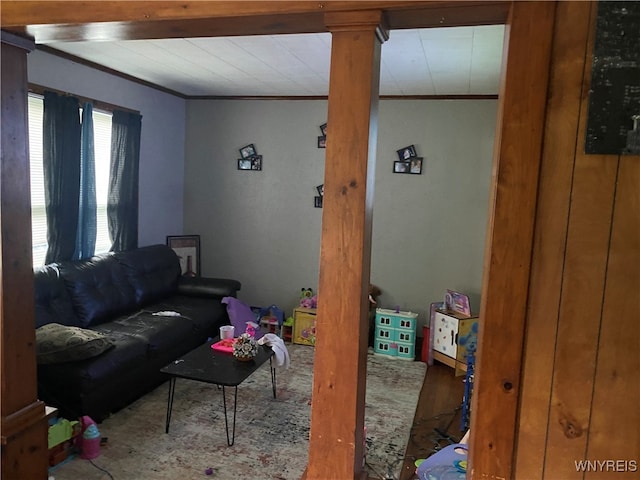
[{"label": "narrow lighter blue middle curtain beside the right window strip", "polygon": [[97,203],[96,161],[93,143],[93,105],[82,106],[82,148],[80,151],[80,202],[74,259],[90,258],[96,250]]}]

